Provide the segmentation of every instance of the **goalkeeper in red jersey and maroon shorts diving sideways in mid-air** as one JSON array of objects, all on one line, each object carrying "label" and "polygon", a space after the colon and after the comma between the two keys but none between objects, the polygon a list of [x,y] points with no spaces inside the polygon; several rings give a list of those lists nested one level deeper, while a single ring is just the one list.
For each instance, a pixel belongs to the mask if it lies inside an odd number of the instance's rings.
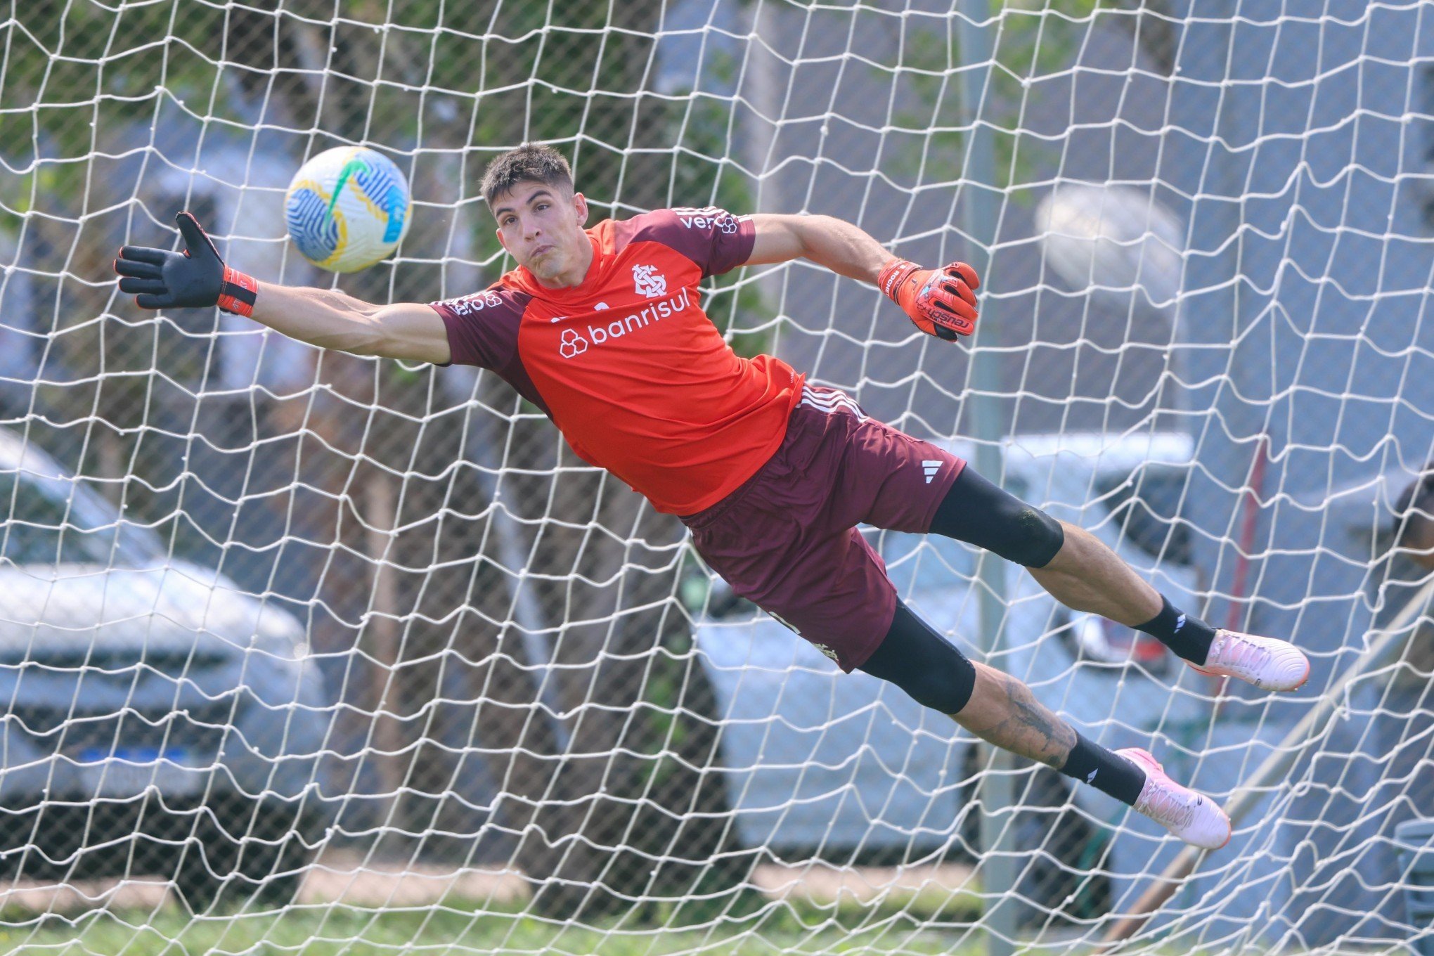
[{"label": "goalkeeper in red jersey and maroon shorts diving sideways in mid-air", "polygon": [[929,335],[977,321],[975,271],[923,269],[829,216],[657,209],[584,228],[568,162],[525,145],[493,159],[482,193],[518,268],[443,302],[371,305],[340,291],[255,282],[199,224],[185,252],[125,247],[119,288],[141,308],[248,315],[358,355],[482,365],[542,408],[584,460],[691,529],[707,563],[846,672],[891,681],[972,734],[1088,783],[1182,840],[1220,847],[1230,821],[1143,750],[1110,751],[1030,688],[968,661],[896,596],[859,523],[945,535],[1027,569],[1076,611],[1150,634],[1202,672],[1271,691],[1304,684],[1285,641],[1215,631],[1173,608],[1088,532],[1057,522],[961,459],[869,419],[771,355],[733,353],[698,284],[740,265],[806,258],[875,282]]}]

